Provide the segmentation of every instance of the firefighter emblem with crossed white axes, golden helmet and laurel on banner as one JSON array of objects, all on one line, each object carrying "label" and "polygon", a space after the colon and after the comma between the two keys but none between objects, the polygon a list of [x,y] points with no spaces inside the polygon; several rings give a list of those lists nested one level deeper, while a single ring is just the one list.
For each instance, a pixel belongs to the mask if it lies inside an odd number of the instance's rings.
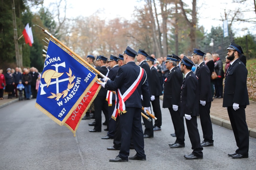
[{"label": "firefighter emblem with crossed white axes, golden helmet and laurel on banner", "polygon": [[[55,100],[59,101],[61,96],[63,96],[62,98],[66,97],[66,95],[68,95],[70,89],[74,87],[75,82],[74,83],[72,83],[72,82],[74,81],[75,75],[72,76],[72,71],[69,68],[69,72],[66,72],[66,74],[69,76],[69,78],[59,80],[59,77],[61,77],[64,73],[58,72],[58,67],[59,66],[65,67],[65,62],[63,62],[61,64],[54,64],[51,66],[55,66],[56,70],[48,69],[48,70],[44,71],[44,73],[42,74],[42,78],[44,79],[46,84],[42,84],[42,82],[40,81],[40,87],[41,87],[40,95],[46,94],[44,91],[44,86],[46,86],[46,88],[48,88],[49,85],[56,84],[56,93],[50,92],[52,95],[48,96],[47,98],[55,98]],[[52,79],[56,79],[56,81],[51,82]],[[67,89],[63,90],[63,92],[59,93],[59,82],[64,82],[64,81],[69,81]]]}]

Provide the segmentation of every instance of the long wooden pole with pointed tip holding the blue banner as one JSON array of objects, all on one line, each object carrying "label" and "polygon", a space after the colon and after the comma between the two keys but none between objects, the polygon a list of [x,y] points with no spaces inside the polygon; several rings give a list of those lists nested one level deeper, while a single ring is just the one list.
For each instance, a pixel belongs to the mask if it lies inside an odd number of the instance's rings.
[{"label": "long wooden pole with pointed tip holding the blue banner", "polygon": [[106,77],[105,75],[103,75],[101,72],[99,72],[97,69],[95,69],[92,65],[90,65],[87,61],[85,61],[84,59],[82,59],[82,57],[80,57],[79,55],[77,55],[74,51],[72,51],[69,47],[67,47],[65,44],[63,44],[61,41],[59,41],[57,38],[55,38],[51,33],[49,33],[47,30],[45,30],[44,28],[40,27],[39,25],[36,25],[39,28],[42,29],[42,31],[44,31],[45,34],[47,34],[48,36],[50,36],[50,38],[52,38],[54,41],[56,41],[57,43],[59,43],[61,46],[63,46],[66,50],[68,50],[71,54],[73,54],[74,56],[76,56],[79,60],[81,60],[83,63],[85,63],[90,69],[92,69],[94,72],[96,72],[98,75],[100,75],[101,77]]}]

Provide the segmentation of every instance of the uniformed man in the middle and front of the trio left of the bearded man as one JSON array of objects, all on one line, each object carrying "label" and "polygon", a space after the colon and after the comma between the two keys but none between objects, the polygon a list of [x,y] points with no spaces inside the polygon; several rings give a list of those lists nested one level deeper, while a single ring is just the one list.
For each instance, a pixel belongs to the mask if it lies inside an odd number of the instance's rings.
[{"label": "uniformed man in the middle and front of the trio left of the bearded man", "polygon": [[195,64],[184,56],[180,65],[181,72],[185,74],[181,86],[181,116],[186,118],[187,132],[193,149],[192,153],[184,157],[185,159],[203,159],[203,147],[200,144],[196,117],[199,116],[199,85],[197,77],[191,71]]}]

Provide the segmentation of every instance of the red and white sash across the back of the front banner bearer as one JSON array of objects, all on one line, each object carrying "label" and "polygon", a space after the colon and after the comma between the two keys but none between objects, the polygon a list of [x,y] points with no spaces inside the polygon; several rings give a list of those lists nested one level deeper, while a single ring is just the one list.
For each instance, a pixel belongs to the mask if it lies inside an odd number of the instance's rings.
[{"label": "red and white sash across the back of the front banner bearer", "polygon": [[125,91],[125,93],[122,95],[120,92],[120,89],[117,89],[117,94],[119,98],[118,103],[118,113],[126,113],[125,111],[125,101],[132,95],[132,93],[136,90],[138,87],[142,77],[143,77],[143,69],[140,67],[140,72],[138,78],[133,82],[133,84]]}]

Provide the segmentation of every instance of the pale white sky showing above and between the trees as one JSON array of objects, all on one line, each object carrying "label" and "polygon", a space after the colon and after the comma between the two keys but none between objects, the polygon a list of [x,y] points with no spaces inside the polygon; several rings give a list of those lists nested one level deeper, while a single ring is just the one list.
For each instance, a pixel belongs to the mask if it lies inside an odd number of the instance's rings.
[{"label": "pale white sky showing above and between the trees", "polygon": [[[44,7],[49,7],[50,3],[59,0],[44,0]],[[68,9],[66,12],[67,17],[77,17],[77,16],[90,16],[93,13],[98,12],[99,16],[103,18],[115,18],[124,17],[127,20],[132,19],[134,6],[141,6],[143,0],[66,0],[68,4]],[[191,0],[183,0],[184,3],[192,6]],[[221,20],[221,15],[224,16],[224,9],[237,9],[238,4],[231,3],[232,0],[214,0],[214,1],[204,1],[198,0],[198,25],[203,25],[207,33],[210,33],[211,27],[217,27],[223,25]],[[242,4],[239,4],[243,7]],[[255,16],[255,13],[246,14]],[[256,17],[256,16],[255,16]],[[233,31],[237,36],[244,36],[249,30],[250,33],[256,34],[255,24],[240,23],[237,26],[232,27]]]}]

